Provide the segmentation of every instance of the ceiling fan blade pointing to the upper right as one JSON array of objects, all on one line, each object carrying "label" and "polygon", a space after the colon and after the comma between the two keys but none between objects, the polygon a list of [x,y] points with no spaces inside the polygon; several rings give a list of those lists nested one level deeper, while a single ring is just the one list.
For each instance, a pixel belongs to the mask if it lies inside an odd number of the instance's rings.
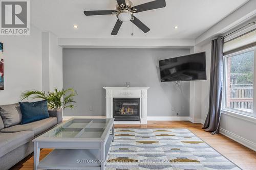
[{"label": "ceiling fan blade pointing to the upper right", "polygon": [[138,13],[138,12],[142,12],[142,11],[163,8],[165,6],[166,6],[165,0],[156,0],[156,1],[149,2],[149,3],[137,5],[137,6],[133,7],[132,10],[136,9],[137,11],[135,13]]}]

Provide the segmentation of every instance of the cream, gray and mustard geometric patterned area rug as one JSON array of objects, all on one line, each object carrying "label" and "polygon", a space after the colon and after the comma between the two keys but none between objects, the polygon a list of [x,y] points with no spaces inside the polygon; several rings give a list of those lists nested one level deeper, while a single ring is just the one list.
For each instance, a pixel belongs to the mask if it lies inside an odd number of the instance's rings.
[{"label": "cream, gray and mustard geometric patterned area rug", "polygon": [[241,169],[188,129],[115,129],[106,170]]}]

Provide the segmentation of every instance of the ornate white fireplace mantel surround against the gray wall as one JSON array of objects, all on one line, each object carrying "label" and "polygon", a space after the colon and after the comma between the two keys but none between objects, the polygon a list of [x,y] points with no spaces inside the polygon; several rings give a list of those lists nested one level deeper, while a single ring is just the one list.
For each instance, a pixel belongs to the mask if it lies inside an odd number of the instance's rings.
[{"label": "ornate white fireplace mantel surround against the gray wall", "polygon": [[[113,98],[139,98],[140,124],[147,124],[147,90],[149,87],[103,87],[106,90],[106,117],[113,117]],[[130,122],[131,123],[131,122]]]}]

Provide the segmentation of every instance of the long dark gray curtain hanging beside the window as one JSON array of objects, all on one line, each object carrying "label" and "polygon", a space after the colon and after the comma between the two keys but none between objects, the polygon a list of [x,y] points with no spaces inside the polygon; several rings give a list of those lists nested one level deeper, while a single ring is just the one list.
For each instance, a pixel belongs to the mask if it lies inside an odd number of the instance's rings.
[{"label": "long dark gray curtain hanging beside the window", "polygon": [[223,82],[223,43],[218,37],[211,41],[210,98],[209,111],[203,129],[211,134],[219,133]]}]

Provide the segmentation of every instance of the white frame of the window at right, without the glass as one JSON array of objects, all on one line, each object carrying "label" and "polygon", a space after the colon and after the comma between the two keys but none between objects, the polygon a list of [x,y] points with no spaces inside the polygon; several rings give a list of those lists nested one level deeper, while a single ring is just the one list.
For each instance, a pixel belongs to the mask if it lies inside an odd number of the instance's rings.
[{"label": "white frame of the window at right, without the glass", "polygon": [[[254,59],[253,59],[253,108],[252,113],[247,111],[241,111],[238,109],[226,108],[227,104],[227,60],[230,57],[240,55],[246,52],[254,51]],[[228,55],[223,56],[223,91],[222,91],[222,111],[223,112],[230,112],[230,113],[237,113],[241,115],[256,117],[256,46],[244,48],[235,53],[231,53]]]}]

